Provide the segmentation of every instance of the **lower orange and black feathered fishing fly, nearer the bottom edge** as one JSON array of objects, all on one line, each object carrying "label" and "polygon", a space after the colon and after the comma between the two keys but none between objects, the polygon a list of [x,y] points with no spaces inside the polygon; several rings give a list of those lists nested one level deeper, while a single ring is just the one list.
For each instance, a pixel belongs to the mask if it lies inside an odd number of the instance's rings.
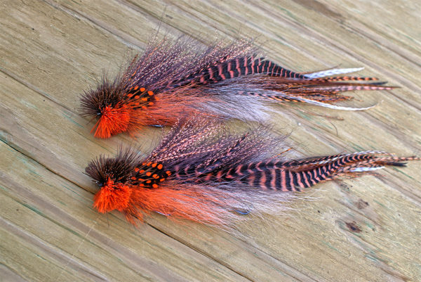
[{"label": "lower orange and black feathered fishing fly, nearer the bottom edge", "polygon": [[90,162],[86,173],[100,186],[99,212],[119,210],[133,224],[159,212],[229,226],[244,213],[281,211],[291,193],[319,182],[418,160],[380,151],[281,160],[272,152],[282,143],[264,127],[232,134],[212,120],[180,121],[147,158],[121,149]]}]

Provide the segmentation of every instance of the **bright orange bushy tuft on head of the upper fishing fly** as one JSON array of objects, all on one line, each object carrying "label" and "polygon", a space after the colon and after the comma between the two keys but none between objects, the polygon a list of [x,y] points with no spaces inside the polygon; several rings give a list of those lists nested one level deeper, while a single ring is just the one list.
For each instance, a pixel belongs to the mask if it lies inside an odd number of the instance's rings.
[{"label": "bright orange bushy tuft on head of the upper fishing fly", "polygon": [[95,124],[95,137],[109,138],[114,134],[126,132],[129,122],[130,114],[125,105],[114,108],[107,106],[101,110],[100,120]]}]

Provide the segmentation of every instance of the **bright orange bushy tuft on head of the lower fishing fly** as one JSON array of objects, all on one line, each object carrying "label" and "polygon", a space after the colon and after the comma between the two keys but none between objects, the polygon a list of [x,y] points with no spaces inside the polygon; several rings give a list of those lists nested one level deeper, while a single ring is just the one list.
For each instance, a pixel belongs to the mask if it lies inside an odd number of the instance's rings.
[{"label": "bright orange bushy tuft on head of the lower fishing fly", "polygon": [[98,212],[105,213],[112,210],[122,212],[126,210],[131,200],[132,189],[124,184],[115,184],[108,179],[105,185],[95,194],[93,206]]}]

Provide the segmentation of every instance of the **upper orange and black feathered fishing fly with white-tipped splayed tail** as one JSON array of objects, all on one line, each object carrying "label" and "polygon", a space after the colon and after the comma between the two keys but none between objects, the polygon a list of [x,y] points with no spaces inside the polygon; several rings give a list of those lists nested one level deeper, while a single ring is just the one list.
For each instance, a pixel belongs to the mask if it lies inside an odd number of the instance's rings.
[{"label": "upper orange and black feathered fishing fly with white-tipped splayed tail", "polygon": [[121,75],[104,77],[81,96],[81,113],[99,117],[95,136],[108,138],[144,125],[172,125],[199,112],[261,121],[267,118],[263,101],[364,110],[333,103],[351,98],[340,95],[342,91],[393,88],[373,82],[373,77],[334,76],[362,68],[298,73],[256,53],[252,41],[203,47],[189,39],[152,40]]}]

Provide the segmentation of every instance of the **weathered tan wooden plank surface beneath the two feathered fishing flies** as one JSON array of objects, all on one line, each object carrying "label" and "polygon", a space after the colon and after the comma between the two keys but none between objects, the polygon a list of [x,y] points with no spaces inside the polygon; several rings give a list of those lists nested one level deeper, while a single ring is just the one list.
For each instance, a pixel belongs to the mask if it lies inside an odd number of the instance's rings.
[{"label": "weathered tan wooden plank surface beneath the two feathered fishing flies", "polygon": [[[77,110],[162,18],[161,33],[259,35],[286,68],[363,66],[401,86],[352,94],[347,105],[380,102],[366,112],[272,106],[291,157],[421,155],[420,11],[405,0],[0,0],[0,281],[421,281],[419,162],[318,185],[295,211],[239,225],[241,238],[159,214],[134,229],[93,210],[83,174],[133,141],[94,139]],[[148,129],[138,142],[147,153],[160,136]]]}]

